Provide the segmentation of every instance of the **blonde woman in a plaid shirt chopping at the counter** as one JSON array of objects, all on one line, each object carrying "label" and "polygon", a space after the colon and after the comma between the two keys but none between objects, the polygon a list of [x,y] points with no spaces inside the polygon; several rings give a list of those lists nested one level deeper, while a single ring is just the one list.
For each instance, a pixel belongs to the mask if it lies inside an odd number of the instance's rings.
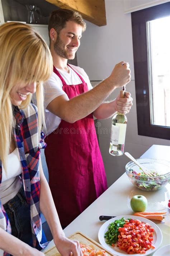
[{"label": "blonde woman in a plaid shirt chopping at the counter", "polygon": [[[62,231],[40,159],[46,146],[42,82],[52,73],[48,46],[30,26],[5,23],[0,56],[0,255],[44,255],[40,210],[61,255],[82,255]],[[30,103],[35,92],[38,111]]]}]

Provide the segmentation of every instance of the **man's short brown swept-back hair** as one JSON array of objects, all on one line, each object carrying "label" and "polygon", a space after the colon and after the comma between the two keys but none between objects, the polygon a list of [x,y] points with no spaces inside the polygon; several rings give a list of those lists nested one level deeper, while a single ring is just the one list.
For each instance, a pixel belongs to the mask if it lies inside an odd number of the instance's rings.
[{"label": "man's short brown swept-back hair", "polygon": [[48,34],[51,28],[54,28],[59,34],[60,31],[66,26],[67,21],[74,21],[81,25],[82,32],[86,30],[86,23],[84,22],[80,13],[68,9],[58,9],[50,14],[48,22]]}]

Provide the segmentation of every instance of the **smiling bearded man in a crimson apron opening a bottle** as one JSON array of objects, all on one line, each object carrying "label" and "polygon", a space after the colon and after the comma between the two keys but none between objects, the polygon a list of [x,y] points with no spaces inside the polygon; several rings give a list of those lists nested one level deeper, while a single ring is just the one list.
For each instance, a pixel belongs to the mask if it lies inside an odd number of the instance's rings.
[{"label": "smiling bearded man in a crimson apron opening a bottle", "polygon": [[103,102],[115,88],[130,81],[128,63],[117,64],[95,88],[82,68],[67,64],[68,59],[75,58],[85,28],[81,15],[71,10],[56,10],[49,19],[54,69],[44,85],[45,156],[49,186],[63,227],[107,189],[93,115],[108,118],[117,111],[126,114],[132,106],[129,93],[123,99],[118,96]]}]

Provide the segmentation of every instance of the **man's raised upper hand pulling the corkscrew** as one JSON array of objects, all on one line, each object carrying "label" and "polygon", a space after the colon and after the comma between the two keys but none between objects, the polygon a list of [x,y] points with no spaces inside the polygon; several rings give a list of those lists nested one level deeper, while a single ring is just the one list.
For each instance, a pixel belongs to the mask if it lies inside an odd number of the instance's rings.
[{"label": "man's raised upper hand pulling the corkscrew", "polygon": [[116,87],[128,84],[131,81],[129,63],[122,61],[116,64],[109,78]]}]

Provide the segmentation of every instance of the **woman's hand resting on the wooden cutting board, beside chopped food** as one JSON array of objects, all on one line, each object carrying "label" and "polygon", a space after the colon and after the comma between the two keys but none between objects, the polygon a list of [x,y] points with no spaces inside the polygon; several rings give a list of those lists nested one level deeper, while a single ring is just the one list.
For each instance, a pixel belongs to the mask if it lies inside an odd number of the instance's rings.
[{"label": "woman's hand resting on the wooden cutting board, beside chopped food", "polygon": [[57,250],[61,253],[62,256],[70,256],[71,253],[73,256],[83,256],[78,241],[71,240],[65,236],[61,236],[55,242]]}]

